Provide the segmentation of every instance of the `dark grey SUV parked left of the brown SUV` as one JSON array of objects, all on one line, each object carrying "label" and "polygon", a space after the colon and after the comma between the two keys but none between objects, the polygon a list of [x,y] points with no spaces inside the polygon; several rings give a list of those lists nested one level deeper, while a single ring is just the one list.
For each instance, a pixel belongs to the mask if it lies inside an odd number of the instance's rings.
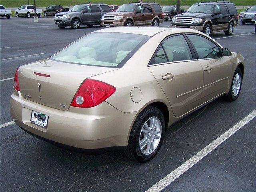
[{"label": "dark grey SUV parked left of the brown SUV", "polygon": [[73,29],[80,28],[80,25],[101,25],[101,17],[105,13],[111,12],[106,4],[80,4],[72,7],[68,12],[55,15],[54,22],[59,28],[64,29],[71,26]]}]

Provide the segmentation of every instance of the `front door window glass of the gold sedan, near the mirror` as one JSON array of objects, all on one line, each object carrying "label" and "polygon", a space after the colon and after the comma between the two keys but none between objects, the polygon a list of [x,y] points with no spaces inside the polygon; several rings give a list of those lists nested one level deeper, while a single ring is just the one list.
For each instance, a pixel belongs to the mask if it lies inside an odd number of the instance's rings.
[{"label": "front door window glass of the gold sedan, near the mirror", "polygon": [[188,35],[188,37],[196,48],[199,59],[219,58],[222,56],[219,47],[207,38],[198,35]]}]

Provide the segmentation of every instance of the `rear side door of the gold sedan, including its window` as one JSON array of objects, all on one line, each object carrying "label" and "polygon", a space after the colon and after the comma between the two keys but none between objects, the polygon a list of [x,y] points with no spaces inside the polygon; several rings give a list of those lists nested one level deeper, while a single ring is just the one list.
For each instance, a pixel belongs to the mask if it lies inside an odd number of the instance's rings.
[{"label": "rear side door of the gold sedan, including its window", "polygon": [[158,47],[148,66],[176,117],[201,104],[203,70],[191,49],[184,35],[170,36]]}]

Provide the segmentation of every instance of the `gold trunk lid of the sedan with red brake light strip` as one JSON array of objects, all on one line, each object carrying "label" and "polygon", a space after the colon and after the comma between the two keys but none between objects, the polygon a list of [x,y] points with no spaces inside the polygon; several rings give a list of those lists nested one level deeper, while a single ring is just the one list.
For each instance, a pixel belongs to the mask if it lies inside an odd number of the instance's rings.
[{"label": "gold trunk lid of the sedan with red brake light strip", "polygon": [[76,91],[86,78],[116,69],[41,60],[21,66],[18,81],[23,98],[68,110]]}]

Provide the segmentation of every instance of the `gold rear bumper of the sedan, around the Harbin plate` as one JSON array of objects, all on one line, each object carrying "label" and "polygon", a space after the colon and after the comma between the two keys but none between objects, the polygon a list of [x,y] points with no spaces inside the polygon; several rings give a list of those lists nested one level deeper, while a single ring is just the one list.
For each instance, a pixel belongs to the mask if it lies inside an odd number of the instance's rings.
[{"label": "gold rear bumper of the sedan, around the Harbin plate", "polygon": [[[49,116],[47,128],[30,122],[35,110]],[[14,90],[10,100],[14,122],[38,137],[82,149],[125,147],[137,112],[124,113],[107,102],[93,108],[58,110],[22,98]]]}]

